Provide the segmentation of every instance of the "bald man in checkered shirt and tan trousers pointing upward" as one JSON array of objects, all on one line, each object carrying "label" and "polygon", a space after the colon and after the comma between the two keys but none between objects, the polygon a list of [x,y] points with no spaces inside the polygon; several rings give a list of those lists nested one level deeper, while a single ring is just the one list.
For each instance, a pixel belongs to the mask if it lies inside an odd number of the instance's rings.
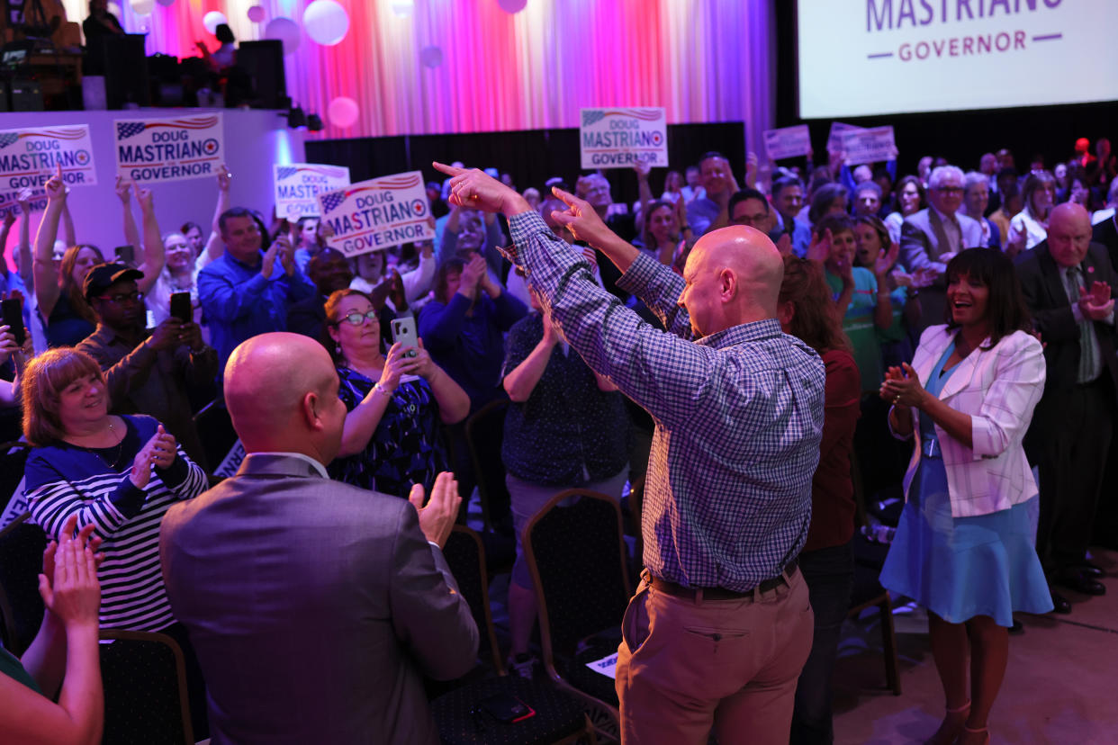
[{"label": "bald man in checkered shirt and tan trousers pointing upward", "polygon": [[796,556],[823,429],[819,357],[776,319],[784,265],[752,228],[707,233],[683,278],[610,232],[594,208],[552,217],[605,254],[641,321],[517,192],[476,170],[452,202],[510,219],[512,260],[565,337],[652,414],[642,532],[647,567],[622,624],[617,695],[628,743],[787,743],[812,610]]}]

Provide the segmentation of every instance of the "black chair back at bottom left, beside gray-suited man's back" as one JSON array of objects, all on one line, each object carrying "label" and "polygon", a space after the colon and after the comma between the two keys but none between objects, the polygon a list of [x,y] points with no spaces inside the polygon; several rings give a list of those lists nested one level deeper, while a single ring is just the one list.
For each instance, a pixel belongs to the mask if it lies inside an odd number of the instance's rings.
[{"label": "black chair back at bottom left, beside gray-suited man's back", "polygon": [[167,634],[102,629],[103,743],[193,745],[187,668]]}]

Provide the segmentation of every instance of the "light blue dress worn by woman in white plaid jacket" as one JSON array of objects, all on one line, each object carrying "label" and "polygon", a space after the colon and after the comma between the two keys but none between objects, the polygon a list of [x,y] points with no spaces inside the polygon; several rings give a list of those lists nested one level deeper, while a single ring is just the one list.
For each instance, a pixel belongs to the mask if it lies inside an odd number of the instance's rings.
[{"label": "light blue dress worn by woman in white plaid jacket", "polygon": [[[953,342],[925,383],[932,395],[939,395],[956,370],[944,370],[954,351]],[[953,517],[936,430],[922,412],[920,438],[925,455],[881,570],[881,584],[950,623],[989,615],[998,625],[1010,627],[1013,611],[1051,611],[1052,596],[1029,519],[1036,497],[989,515]]]}]

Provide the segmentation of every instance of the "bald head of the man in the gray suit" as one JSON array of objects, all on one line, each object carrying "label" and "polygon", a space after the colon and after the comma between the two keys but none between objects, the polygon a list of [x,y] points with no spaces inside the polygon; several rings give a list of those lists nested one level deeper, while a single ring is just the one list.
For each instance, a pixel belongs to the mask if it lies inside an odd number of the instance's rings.
[{"label": "bald head of the man in the gray suit", "polygon": [[241,343],[225,367],[225,401],[246,452],[302,452],[323,465],[338,452],[345,420],[338,373],[307,336],[260,334]]}]

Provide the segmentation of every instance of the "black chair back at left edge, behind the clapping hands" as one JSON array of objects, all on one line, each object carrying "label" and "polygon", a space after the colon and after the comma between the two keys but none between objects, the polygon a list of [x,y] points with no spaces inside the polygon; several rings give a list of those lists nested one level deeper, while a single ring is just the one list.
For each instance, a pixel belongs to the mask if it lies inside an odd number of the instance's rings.
[{"label": "black chair back at left edge, behind the clapping hands", "polygon": [[23,513],[0,531],[0,619],[4,647],[22,655],[42,622],[39,572],[47,535]]}]

